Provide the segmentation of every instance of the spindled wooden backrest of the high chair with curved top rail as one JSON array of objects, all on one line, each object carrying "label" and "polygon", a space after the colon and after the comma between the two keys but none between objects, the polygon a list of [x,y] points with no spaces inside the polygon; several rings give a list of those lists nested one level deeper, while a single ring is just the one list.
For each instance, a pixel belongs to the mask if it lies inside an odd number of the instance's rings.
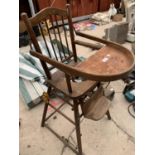
[{"label": "spindled wooden backrest of the high chair with curved top rail", "polygon": [[[77,62],[76,48],[74,44],[74,32],[70,5],[66,10],[47,7],[35,16],[28,18],[26,13],[21,14],[31,40],[31,49],[46,55],[59,62],[69,62],[73,59]],[[38,26],[40,36],[36,36],[33,27]],[[69,35],[68,37],[68,28]],[[63,31],[63,32],[62,32]],[[41,61],[46,76],[51,79],[50,69],[53,66]]]}]

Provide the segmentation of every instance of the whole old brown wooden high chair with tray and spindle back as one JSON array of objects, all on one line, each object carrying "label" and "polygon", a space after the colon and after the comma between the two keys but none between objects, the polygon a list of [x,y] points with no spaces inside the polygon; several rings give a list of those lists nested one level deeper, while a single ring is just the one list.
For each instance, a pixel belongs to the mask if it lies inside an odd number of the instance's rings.
[{"label": "whole old brown wooden high chair with tray and spindle back", "polygon": [[[81,131],[80,131],[80,113],[79,107],[82,107],[83,116],[86,118],[90,118],[92,120],[99,120],[105,114],[110,118],[109,113],[109,102],[103,96],[101,90],[100,81],[112,81],[123,78],[125,75],[132,70],[134,67],[134,56],[133,54],[127,50],[126,48],[120,46],[119,44],[109,42],[94,36],[90,36],[81,32],[76,32],[77,35],[90,39],[92,41],[98,42],[99,45],[86,43],[82,41],[75,40],[74,37],[74,28],[72,23],[72,15],[70,5],[67,5],[66,10],[61,10],[57,8],[45,8],[44,10],[38,12],[34,17],[28,18],[27,14],[22,14],[22,19],[25,22],[27,31],[30,35],[30,39],[32,44],[34,45],[34,50],[31,50],[31,55],[39,58],[43,69],[46,73],[47,79],[46,84],[48,86],[48,95],[51,94],[60,97],[61,99],[68,103],[74,112],[75,125],[76,128],[76,137],[78,143],[78,155],[82,155],[82,143],[81,143]],[[47,19],[51,21],[51,27],[48,26]],[[64,24],[63,19],[68,20],[69,24],[69,33],[70,33],[70,41],[72,49],[69,49],[69,44],[67,34],[64,29],[64,37],[66,42],[66,47],[68,52],[72,52],[66,54],[64,51],[64,47],[62,46],[65,42],[61,42],[61,34],[59,31],[59,24]],[[59,21],[58,21],[59,20]],[[41,22],[45,22],[45,27],[47,29],[48,35],[44,34]],[[45,42],[45,46],[47,50],[50,52],[50,48],[46,43],[46,38],[49,37],[50,41],[53,39],[59,40],[60,46],[58,47],[58,52],[60,58],[54,56],[45,56],[42,53],[42,50],[39,46],[37,37],[33,31],[33,26],[40,24],[40,32],[42,35],[42,40]],[[64,25],[63,25],[64,26]],[[50,34],[50,30],[52,30],[53,36]],[[46,36],[45,36],[46,35]],[[53,37],[53,38],[52,38]],[[52,42],[51,42],[52,43]],[[88,58],[86,61],[78,63],[77,61],[77,52],[76,52],[76,44],[83,45],[89,48],[97,49],[98,52]],[[58,44],[57,44],[58,45]],[[53,46],[53,44],[51,44]],[[62,53],[60,54],[60,50],[62,49]],[[109,61],[108,64],[111,66],[111,69],[108,70],[108,67],[103,63],[103,59],[107,55],[111,55],[113,60],[117,61]],[[120,61],[118,61],[118,58]],[[116,59],[117,58],[117,59]],[[128,60],[126,59],[128,58]],[[70,62],[74,61],[74,65],[71,65]],[[116,63],[115,63],[116,62]],[[118,63],[118,64],[117,64]],[[47,64],[51,65],[50,69],[57,69],[61,71],[61,74],[52,73],[49,71],[49,67]],[[76,77],[82,77],[82,81],[76,82]],[[71,101],[71,102],[70,102]],[[42,115],[41,126],[45,126],[45,122],[50,118],[46,116],[48,106],[50,103],[46,103]],[[64,114],[60,108],[53,107],[54,113],[58,112],[62,116],[64,116],[67,120],[68,117]],[[63,141],[61,136],[51,129],[51,131]],[[70,147],[72,148],[72,147]],[[77,152],[74,150],[74,152]]]}]

